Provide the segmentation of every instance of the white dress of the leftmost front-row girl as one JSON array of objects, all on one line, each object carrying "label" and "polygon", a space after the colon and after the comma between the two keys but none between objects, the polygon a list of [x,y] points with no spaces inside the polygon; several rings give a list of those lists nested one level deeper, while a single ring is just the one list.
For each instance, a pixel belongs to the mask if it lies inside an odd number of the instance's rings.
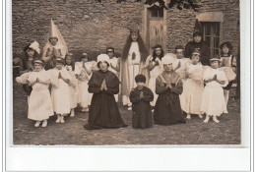
[{"label": "white dress of the leftmost front-row girl", "polygon": [[[43,82],[49,80],[47,72],[41,70],[40,72],[31,72],[28,78],[29,82],[34,82],[39,79]],[[35,121],[42,121],[52,116],[53,107],[50,98],[50,92],[47,85],[36,83],[32,86],[32,94],[29,102],[28,118]]]}]

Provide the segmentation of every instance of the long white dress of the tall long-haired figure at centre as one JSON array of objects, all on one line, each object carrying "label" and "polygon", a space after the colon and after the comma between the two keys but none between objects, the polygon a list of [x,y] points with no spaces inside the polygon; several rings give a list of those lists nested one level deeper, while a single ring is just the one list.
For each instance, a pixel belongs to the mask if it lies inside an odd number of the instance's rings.
[{"label": "long white dress of the tall long-haired figure at centre", "polygon": [[[132,59],[133,53],[135,53],[136,55],[134,60]],[[127,76],[129,79],[129,89],[132,90],[137,86],[134,79],[140,72],[141,53],[140,53],[138,42],[132,42],[129,53],[128,53],[127,62],[128,62],[128,73],[129,73],[129,75]],[[123,95],[122,101],[123,101],[123,105],[128,105],[128,106],[132,105],[128,95]]]}]

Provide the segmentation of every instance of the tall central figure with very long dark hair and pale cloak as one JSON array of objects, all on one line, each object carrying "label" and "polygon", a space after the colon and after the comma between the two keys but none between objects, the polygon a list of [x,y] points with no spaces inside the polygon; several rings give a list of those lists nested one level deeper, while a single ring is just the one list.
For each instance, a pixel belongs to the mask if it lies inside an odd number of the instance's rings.
[{"label": "tall central figure with very long dark hair and pale cloak", "polygon": [[149,84],[149,70],[144,67],[147,56],[148,51],[144,46],[139,30],[131,29],[120,59],[122,101],[123,105],[129,106],[128,110],[132,110],[129,94],[137,86],[134,80],[135,77],[138,74],[143,74],[146,77],[146,86]]}]

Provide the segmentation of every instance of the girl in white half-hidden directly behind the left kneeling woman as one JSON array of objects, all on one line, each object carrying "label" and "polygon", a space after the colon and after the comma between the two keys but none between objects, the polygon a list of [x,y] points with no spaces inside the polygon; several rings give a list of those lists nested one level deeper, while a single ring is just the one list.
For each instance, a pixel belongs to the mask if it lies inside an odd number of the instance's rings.
[{"label": "girl in white half-hidden directly behind the left kneeling woman", "polygon": [[[109,56],[109,68],[108,71],[113,72],[119,78],[120,71],[120,59],[114,57],[114,48],[108,47],[106,48],[106,54]],[[118,101],[118,94],[114,94],[115,101]]]}]

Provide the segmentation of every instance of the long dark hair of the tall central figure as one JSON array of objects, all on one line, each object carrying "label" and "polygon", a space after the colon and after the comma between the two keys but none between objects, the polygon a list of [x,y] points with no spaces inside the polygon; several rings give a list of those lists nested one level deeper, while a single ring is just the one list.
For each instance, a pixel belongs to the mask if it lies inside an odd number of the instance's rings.
[{"label": "long dark hair of the tall central figure", "polygon": [[[130,33],[128,38],[126,39],[126,43],[125,43],[124,48],[123,48],[122,59],[124,59],[124,60],[127,59],[131,44],[133,42],[131,34],[132,33]],[[139,32],[138,32],[137,42],[139,44],[139,50],[140,50],[140,53],[141,53],[141,61],[145,62],[149,53],[148,53],[147,49],[145,48],[144,42],[143,42],[142,37],[141,37]]]}]

